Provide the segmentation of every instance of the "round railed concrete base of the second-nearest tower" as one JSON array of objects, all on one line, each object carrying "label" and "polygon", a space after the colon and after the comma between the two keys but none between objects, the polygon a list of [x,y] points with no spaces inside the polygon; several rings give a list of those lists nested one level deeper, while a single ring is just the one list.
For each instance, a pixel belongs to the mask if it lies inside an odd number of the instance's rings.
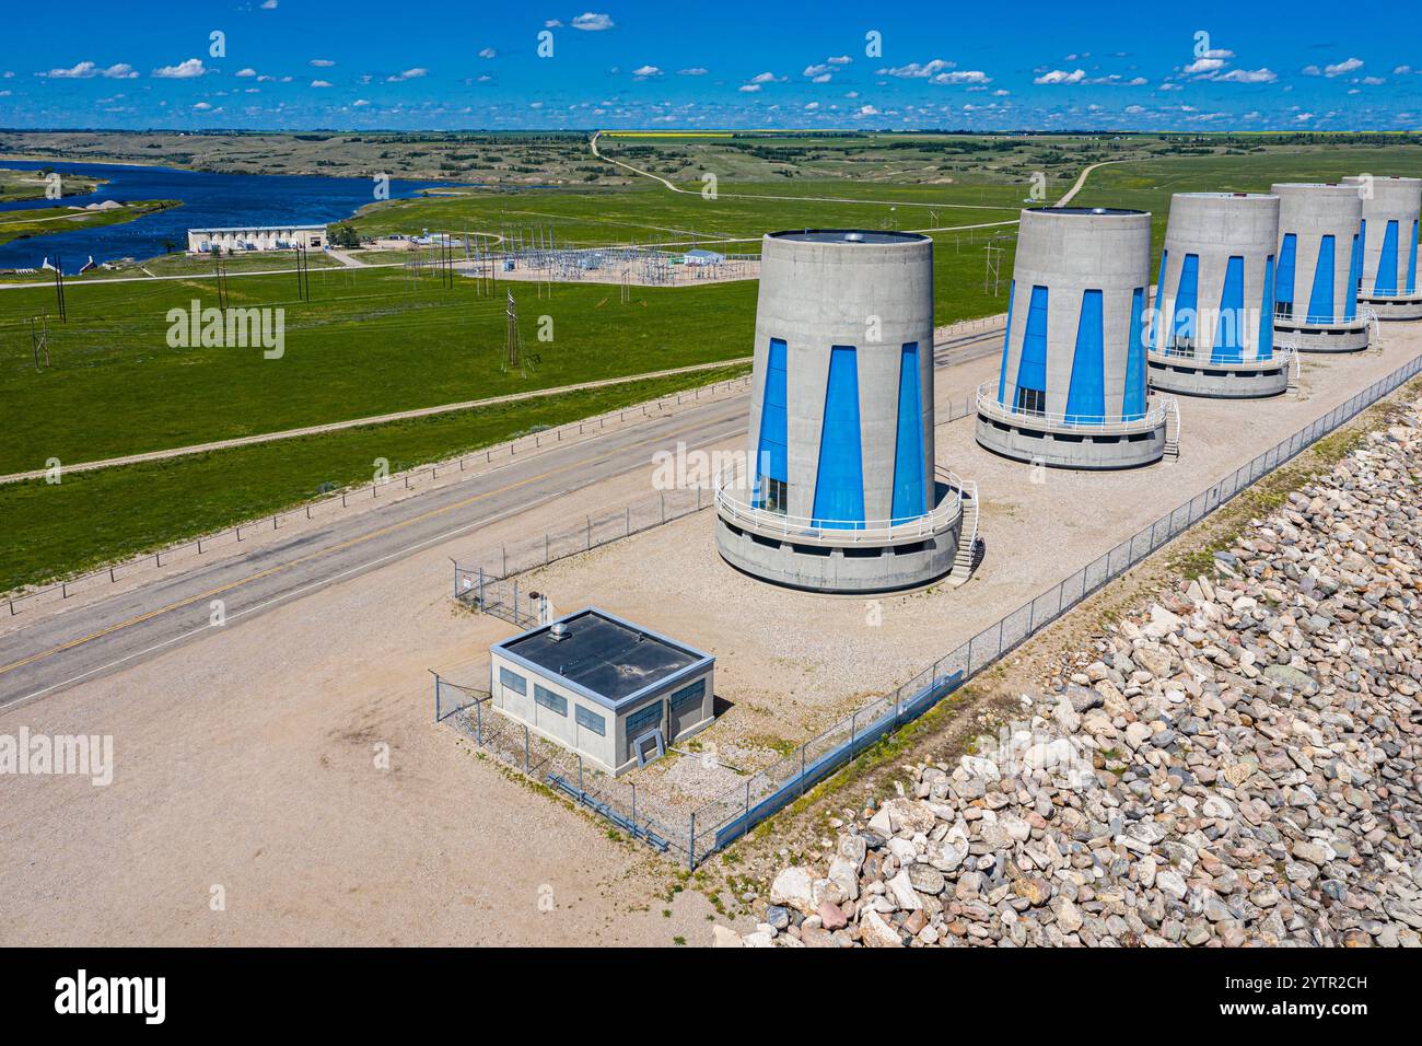
[{"label": "round railed concrete base of the second-nearest tower", "polygon": [[1017,461],[1052,468],[1136,468],[1165,457],[1166,418],[1152,411],[1138,423],[1064,426],[1022,414],[978,408],[978,445]]}]

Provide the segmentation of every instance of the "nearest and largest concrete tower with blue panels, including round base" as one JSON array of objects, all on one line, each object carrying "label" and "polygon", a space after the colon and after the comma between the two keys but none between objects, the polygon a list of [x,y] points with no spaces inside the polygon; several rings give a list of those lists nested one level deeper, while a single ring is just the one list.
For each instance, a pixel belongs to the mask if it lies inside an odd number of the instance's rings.
[{"label": "nearest and largest concrete tower with blue panels, including round base", "polygon": [[717,484],[717,546],[823,592],[953,568],[961,490],[933,451],[933,241],[806,229],[761,248],[744,467]]}]

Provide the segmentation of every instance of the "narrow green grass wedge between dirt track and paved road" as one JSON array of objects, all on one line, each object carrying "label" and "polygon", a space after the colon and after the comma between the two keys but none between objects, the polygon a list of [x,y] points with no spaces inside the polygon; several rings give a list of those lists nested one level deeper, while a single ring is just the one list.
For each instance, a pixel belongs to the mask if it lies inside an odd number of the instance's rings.
[{"label": "narrow green grass wedge between dirt track and paved road", "polygon": [[728,367],[0,485],[0,592],[73,576],[391,474],[619,407],[739,377]]}]

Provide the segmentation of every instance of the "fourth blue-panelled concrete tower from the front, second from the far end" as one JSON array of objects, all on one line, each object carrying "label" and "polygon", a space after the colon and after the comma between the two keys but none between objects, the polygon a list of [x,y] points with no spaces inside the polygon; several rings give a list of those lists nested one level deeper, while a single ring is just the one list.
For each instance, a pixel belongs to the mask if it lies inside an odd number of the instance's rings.
[{"label": "fourth blue-panelled concrete tower from the front, second from the far end", "polygon": [[1305,353],[1368,347],[1358,309],[1362,280],[1362,201],[1355,185],[1287,182],[1278,196],[1276,342]]}]

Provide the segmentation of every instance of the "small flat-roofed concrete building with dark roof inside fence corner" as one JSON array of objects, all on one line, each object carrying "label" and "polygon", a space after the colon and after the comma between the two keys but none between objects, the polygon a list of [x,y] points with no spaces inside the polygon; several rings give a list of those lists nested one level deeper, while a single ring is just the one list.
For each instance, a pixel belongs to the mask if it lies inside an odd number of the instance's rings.
[{"label": "small flat-roofed concrete building with dark roof inside fence corner", "polygon": [[715,719],[715,657],[596,606],[489,649],[495,709],[621,774]]}]

